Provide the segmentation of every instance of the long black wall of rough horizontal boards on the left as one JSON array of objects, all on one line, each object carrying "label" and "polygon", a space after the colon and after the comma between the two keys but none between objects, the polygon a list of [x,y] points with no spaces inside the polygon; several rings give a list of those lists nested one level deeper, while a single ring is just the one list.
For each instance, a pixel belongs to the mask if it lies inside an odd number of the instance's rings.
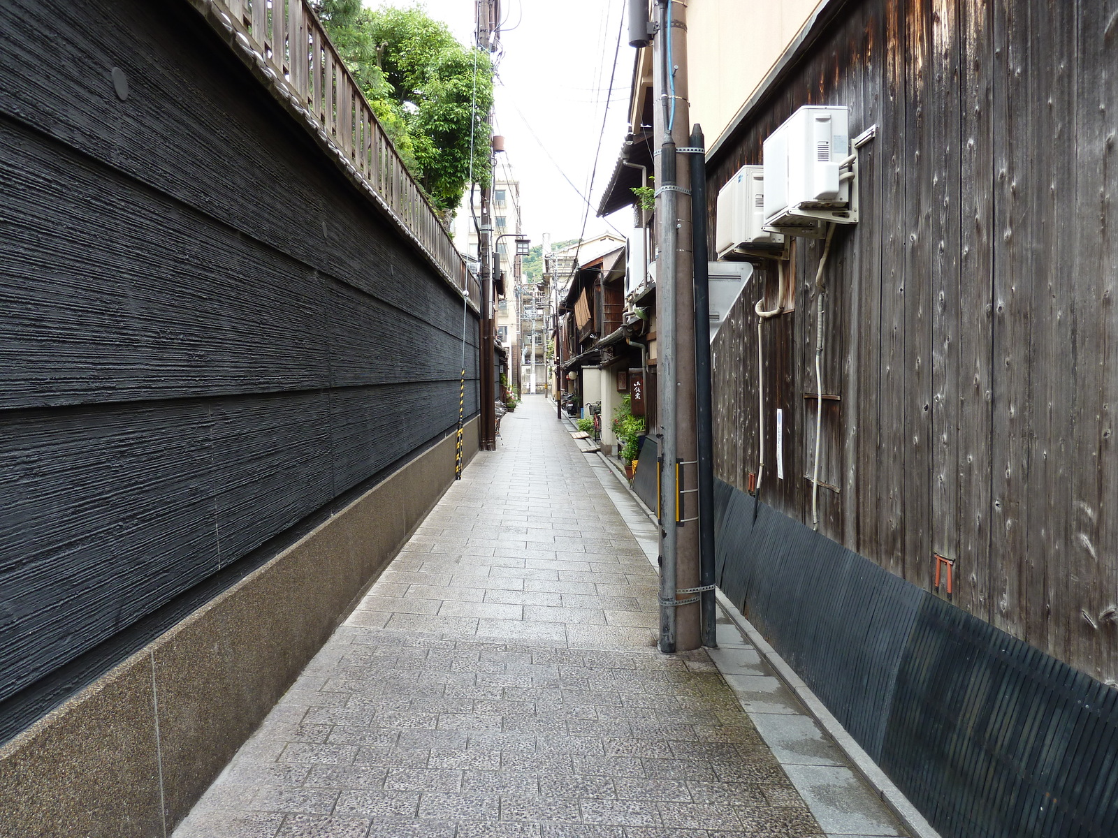
[{"label": "long black wall of rough horizontal boards on the left", "polygon": [[188,4],[6,0],[0,77],[8,735],[453,432],[463,332],[473,416],[477,321]]}]

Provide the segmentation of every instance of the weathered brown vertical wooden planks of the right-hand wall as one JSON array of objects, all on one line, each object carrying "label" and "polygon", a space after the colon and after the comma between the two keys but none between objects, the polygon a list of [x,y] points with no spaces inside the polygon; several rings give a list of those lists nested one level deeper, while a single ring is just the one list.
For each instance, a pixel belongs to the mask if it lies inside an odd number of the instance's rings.
[{"label": "weathered brown vertical wooden planks of the right-hand wall", "polygon": [[[710,161],[719,188],[797,107],[851,108],[862,220],[826,270],[823,533],[1118,679],[1118,1],[852,0]],[[710,225],[713,230],[713,223]],[[761,497],[811,524],[821,242],[762,326]],[[771,295],[775,270],[764,272]],[[714,344],[720,477],[757,449],[758,289]],[[775,411],[784,411],[785,479]]]}]

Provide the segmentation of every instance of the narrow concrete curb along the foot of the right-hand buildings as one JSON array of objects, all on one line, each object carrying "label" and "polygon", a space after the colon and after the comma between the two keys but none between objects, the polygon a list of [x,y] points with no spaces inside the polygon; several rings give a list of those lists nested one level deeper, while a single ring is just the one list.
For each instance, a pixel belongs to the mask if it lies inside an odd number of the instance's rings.
[{"label": "narrow concrete curb along the foot of the right-hand buildings", "polygon": [[[603,463],[609,467],[609,470],[617,478],[625,491],[633,497],[641,510],[648,516],[648,518],[655,523],[656,515],[650,510],[644,502],[637,496],[633,488],[628,485],[628,480],[620,470],[614,466],[609,458],[604,456],[600,451],[598,456],[601,457]],[[816,724],[823,729],[823,731],[834,741],[839,746],[839,750],[843,752],[843,755],[850,760],[851,768],[861,775],[865,783],[873,790],[873,792],[881,799],[885,804],[885,808],[901,822],[901,825],[912,835],[912,838],[940,838],[940,835],[936,829],[928,822],[928,820],[920,813],[920,811],[909,801],[904,793],[897,788],[892,780],[885,774],[884,771],[873,761],[873,759],[862,750],[862,746],[854,741],[846,729],[842,726],[837,718],[826,708],[826,705],[819,701],[819,697],[812,692],[812,688],[804,683],[804,679],[796,675],[795,670],[788,666],[779,653],[774,649],[765,640],[761,634],[754,627],[749,620],[735,607],[735,604],[727,598],[721,590],[716,589],[714,596],[718,601],[719,608],[729,618],[729,620],[735,625],[735,627],[742,634],[745,638],[752,644],[754,648],[757,649],[758,655],[771,667],[773,672],[776,673],[777,678],[779,678],[785,686],[790,689],[796,698],[799,699],[800,704],[804,705],[807,714],[815,720]]]}]

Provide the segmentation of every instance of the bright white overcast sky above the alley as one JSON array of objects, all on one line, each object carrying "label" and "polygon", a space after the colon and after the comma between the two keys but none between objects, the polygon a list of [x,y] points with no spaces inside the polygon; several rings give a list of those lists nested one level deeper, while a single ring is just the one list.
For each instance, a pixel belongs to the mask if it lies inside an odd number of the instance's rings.
[{"label": "bright white overcast sky above the alley", "polygon": [[[407,8],[417,3],[364,0],[364,4]],[[474,0],[420,0],[418,4],[433,18],[445,21],[459,41],[473,41]],[[586,203],[559,170],[582,194],[588,194],[609,98],[598,170],[589,194],[597,207],[627,130],[635,50],[624,41],[617,53],[613,96],[607,96],[625,0],[502,0],[501,4],[505,16],[503,56],[498,67],[494,112],[496,133],[504,135],[508,151],[498,155],[498,177],[504,177],[501,159],[505,158],[521,183],[523,232],[533,245],[540,244],[543,232],[550,232],[552,241],[577,238]],[[632,225],[625,210],[609,220],[622,231]],[[606,231],[612,230],[590,209],[586,237]]]}]

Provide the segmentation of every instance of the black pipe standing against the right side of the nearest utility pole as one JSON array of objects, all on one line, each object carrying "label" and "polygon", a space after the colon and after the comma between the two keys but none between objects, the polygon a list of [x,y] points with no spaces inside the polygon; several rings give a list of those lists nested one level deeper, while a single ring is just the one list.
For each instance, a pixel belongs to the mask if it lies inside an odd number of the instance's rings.
[{"label": "black pipe standing against the right side of the nearest utility pole", "polygon": [[[703,149],[702,128],[691,131],[691,147]],[[699,459],[699,585],[714,584],[714,429],[711,419],[710,277],[707,274],[707,160],[692,152],[691,230],[695,308],[695,441]],[[714,591],[700,593],[702,645],[717,647]]]}]

